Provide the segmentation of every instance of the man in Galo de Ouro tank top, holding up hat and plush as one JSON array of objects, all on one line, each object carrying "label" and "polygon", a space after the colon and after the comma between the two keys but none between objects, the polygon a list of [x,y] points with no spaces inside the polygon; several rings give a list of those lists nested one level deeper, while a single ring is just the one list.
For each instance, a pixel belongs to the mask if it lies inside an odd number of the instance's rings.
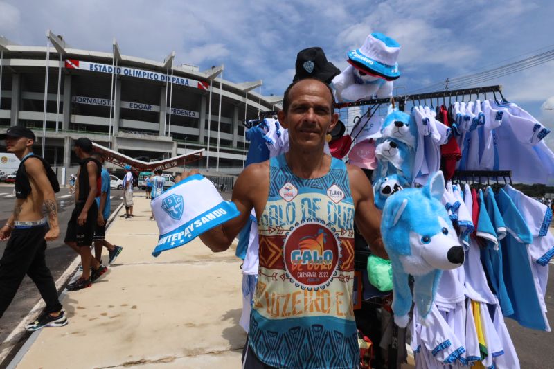
[{"label": "man in Galo de Ouro tank top, holding up hat and plush", "polygon": [[245,168],[233,188],[240,216],[200,238],[225,251],[256,210],[259,279],[242,368],[357,368],[353,222],[373,253],[388,259],[371,183],[323,153],[339,118],[325,83],[291,84],[278,118],[289,130],[289,152]]}]

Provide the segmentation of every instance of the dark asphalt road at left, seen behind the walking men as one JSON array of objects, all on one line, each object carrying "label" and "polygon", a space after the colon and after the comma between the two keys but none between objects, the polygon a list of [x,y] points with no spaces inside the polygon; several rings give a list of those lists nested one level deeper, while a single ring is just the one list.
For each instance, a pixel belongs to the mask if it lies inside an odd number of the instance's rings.
[{"label": "dark asphalt road at left, seen behind the walking men", "polygon": [[[6,224],[6,220],[12,213],[15,202],[15,195],[12,195],[12,190],[13,186],[4,184],[0,186],[0,224]],[[112,211],[114,211],[122,201],[121,196],[122,191],[111,190]],[[62,188],[60,192],[57,193],[56,198],[58,217],[60,219],[60,238],[55,242],[49,242],[48,249],[46,250],[46,264],[48,264],[54,280],[57,280],[75,259],[75,252],[69,249],[68,246],[65,246],[63,242],[67,222],[71,217],[71,211],[73,210],[75,201],[73,195],[69,194],[68,188]],[[0,242],[0,255],[3,254],[4,249],[6,249],[6,242]],[[0,343],[6,339],[10,332],[19,324],[21,319],[27,316],[30,309],[35,306],[39,299],[40,295],[35,284],[26,276],[12,304],[8,307],[8,310],[0,320]]]}]

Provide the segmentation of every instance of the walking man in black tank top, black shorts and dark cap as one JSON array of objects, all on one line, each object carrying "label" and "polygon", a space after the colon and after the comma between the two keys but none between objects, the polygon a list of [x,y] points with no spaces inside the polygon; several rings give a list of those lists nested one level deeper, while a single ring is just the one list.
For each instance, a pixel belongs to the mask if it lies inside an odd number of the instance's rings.
[{"label": "walking man in black tank top, black shorts and dark cap", "polygon": [[[82,275],[75,282],[67,285],[68,291],[78,291],[91,287],[91,280],[96,280],[107,271],[98,260],[92,257],[91,246],[98,220],[98,206],[95,197],[100,192],[102,165],[91,155],[92,141],[79,138],[73,145],[73,151],[79,159],[79,172],[75,183],[75,209],[67,223],[64,242],[81,255]],[[92,266],[92,271],[91,271]]]}]

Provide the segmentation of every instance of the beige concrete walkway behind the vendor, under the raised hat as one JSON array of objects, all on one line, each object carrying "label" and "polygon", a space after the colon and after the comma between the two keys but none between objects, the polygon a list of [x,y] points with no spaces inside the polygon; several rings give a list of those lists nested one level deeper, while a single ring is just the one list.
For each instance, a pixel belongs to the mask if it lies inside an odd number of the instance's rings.
[{"label": "beige concrete walkway behind the vendor, under the raised hat", "polygon": [[240,368],[246,334],[234,250],[212,253],[197,239],[154,258],[150,200],[134,197],[134,214],[107,232],[123,246],[108,273],[62,294],[69,324],[33,333],[10,367]]}]

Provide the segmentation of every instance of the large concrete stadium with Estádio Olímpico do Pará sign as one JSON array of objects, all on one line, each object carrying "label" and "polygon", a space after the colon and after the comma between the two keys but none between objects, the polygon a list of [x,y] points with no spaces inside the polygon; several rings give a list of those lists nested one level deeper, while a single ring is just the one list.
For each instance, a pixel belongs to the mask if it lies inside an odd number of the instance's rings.
[{"label": "large concrete stadium with Est\u00e1dio Ol\u00edmpico do Par\u00e1 sign", "polygon": [[209,158],[210,170],[236,174],[248,148],[243,120],[282,99],[256,93],[261,80],[224,80],[223,66],[175,65],[175,53],[145,60],[122,55],[115,40],[112,53],[81,50],[50,31],[47,42],[21,46],[0,37],[0,129],[33,129],[35,152],[44,137],[44,156],[57,168],[78,164],[72,143],[86,136],[143,161],[204,148],[193,166],[205,169]]}]

